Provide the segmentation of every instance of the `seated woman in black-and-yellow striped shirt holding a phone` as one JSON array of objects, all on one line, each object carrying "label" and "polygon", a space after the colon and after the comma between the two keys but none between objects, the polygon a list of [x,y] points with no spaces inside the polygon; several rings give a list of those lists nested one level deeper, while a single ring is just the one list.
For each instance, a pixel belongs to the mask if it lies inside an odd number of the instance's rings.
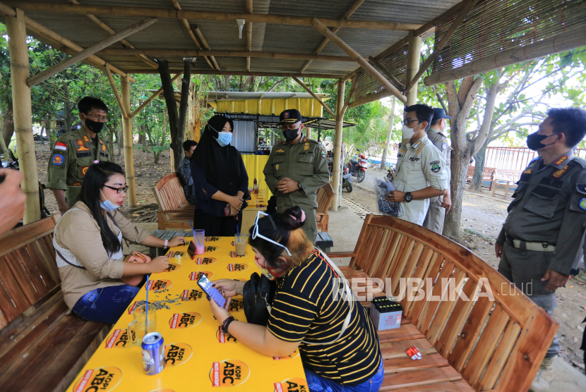
[{"label": "seated woman in black-and-yellow striped shirt holding a phone", "polygon": [[[376,330],[360,302],[345,300],[345,284],[306,238],[304,219],[296,206],[251,228],[256,264],[277,283],[268,325],[230,319],[229,300],[225,308],[210,300],[212,312],[225,332],[258,353],[287,357],[299,348],[312,392],[378,391],[384,369]],[[220,279],[214,285],[231,298],[242,294],[244,283]]]}]

